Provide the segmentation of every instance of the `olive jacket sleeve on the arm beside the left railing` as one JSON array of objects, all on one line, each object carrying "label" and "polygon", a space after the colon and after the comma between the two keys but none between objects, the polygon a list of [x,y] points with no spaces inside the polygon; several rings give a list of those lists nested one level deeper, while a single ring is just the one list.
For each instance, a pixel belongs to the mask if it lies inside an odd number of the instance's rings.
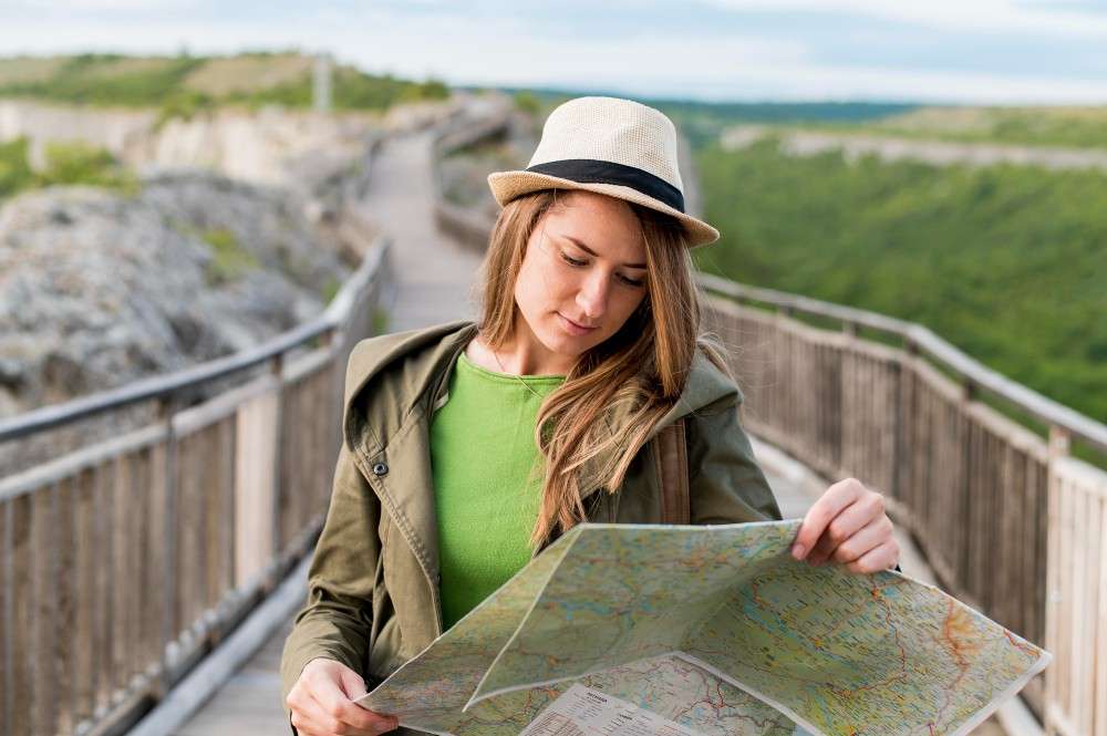
[{"label": "olive jacket sleeve on the arm beside the left railing", "polygon": [[311,660],[335,660],[364,675],[381,553],[380,514],[379,499],[343,443],[327,520],[308,571],[308,601],[296,615],[281,655],[281,703],[289,718],[284,701]]}]

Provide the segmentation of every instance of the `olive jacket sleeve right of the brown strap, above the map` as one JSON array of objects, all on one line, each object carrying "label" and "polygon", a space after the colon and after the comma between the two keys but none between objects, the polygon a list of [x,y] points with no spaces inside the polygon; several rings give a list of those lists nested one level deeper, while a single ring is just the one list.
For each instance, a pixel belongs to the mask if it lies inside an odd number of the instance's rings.
[{"label": "olive jacket sleeve right of the brown strap, above the map", "polygon": [[692,524],[780,519],[773,489],[754,458],[737,403],[705,407],[687,422]]}]

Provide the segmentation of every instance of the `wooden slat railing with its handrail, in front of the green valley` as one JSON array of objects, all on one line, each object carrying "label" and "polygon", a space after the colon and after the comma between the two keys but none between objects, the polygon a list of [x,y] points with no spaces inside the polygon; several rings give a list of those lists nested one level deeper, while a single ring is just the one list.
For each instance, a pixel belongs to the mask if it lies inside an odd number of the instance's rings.
[{"label": "wooden slat railing with its handrail, in front of the green valley", "polygon": [[1070,440],[1107,452],[1107,426],[921,325],[707,274],[700,283],[751,432],[828,478],[882,491],[944,588],[1053,653],[1044,690],[1038,678],[1024,691],[1047,730],[1107,734],[1107,473],[1068,454]]}]

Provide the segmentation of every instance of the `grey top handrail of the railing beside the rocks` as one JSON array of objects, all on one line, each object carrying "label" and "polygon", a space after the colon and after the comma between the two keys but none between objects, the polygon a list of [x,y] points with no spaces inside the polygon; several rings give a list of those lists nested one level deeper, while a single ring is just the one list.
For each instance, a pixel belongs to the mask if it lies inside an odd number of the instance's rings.
[{"label": "grey top handrail of the railing beside the rocks", "polygon": [[373,248],[366,256],[354,276],[342,284],[339,293],[323,314],[314,320],[282,332],[262,345],[239,351],[226,357],[218,357],[174,373],[134,381],[118,388],[108,388],[60,404],[43,406],[9,419],[0,419],[0,442],[24,437],[35,432],[138,402],[165,398],[231,373],[254,367],[299,348],[319,335],[330,334],[342,324],[344,314],[353,303],[354,296],[363,288],[364,282],[372,278],[381,259],[384,258],[384,252],[390,247],[390,238],[379,238],[377,247]]}]

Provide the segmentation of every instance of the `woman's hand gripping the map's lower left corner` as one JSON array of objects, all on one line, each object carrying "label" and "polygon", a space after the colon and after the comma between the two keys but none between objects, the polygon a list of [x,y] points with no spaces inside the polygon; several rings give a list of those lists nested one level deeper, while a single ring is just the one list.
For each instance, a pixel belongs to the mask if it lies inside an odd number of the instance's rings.
[{"label": "woman's hand gripping the map's lower left corner", "polygon": [[292,685],[286,703],[300,736],[377,736],[400,722],[353,701],[365,694],[365,681],[341,662],[317,657]]}]

